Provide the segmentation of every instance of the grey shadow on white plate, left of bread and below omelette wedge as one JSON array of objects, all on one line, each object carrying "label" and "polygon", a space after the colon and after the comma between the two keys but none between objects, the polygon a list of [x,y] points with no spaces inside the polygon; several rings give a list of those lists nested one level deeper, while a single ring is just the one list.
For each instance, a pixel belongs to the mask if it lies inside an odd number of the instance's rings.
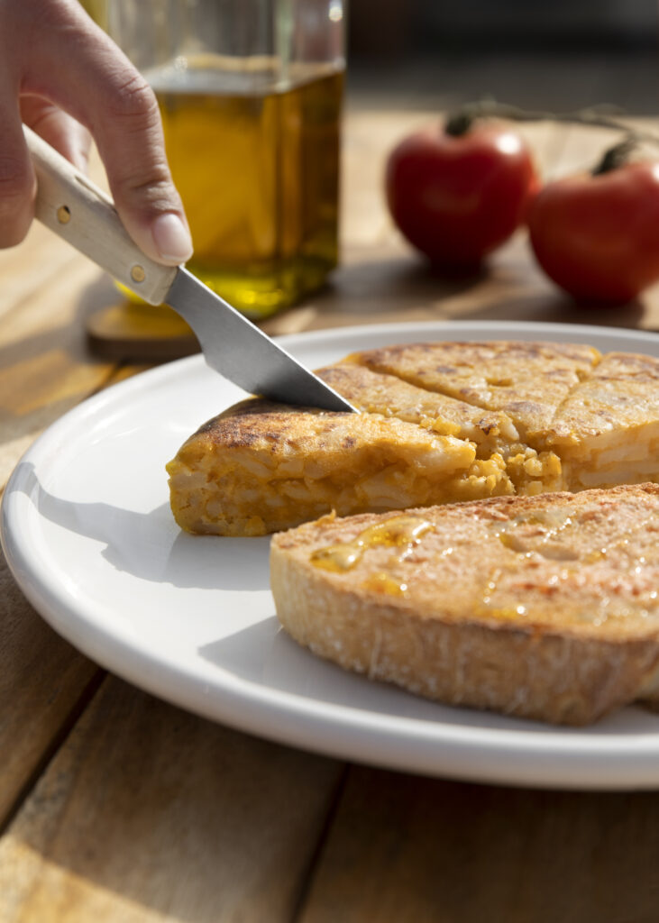
[{"label": "grey shadow on white plate, left of bread and below omelette wedge", "polygon": [[270,585],[269,537],[188,535],[175,524],[167,503],[141,513],[108,503],[54,497],[29,462],[20,462],[14,477],[40,516],[68,532],[102,543],[99,554],[116,570],[177,587],[258,591]]}]

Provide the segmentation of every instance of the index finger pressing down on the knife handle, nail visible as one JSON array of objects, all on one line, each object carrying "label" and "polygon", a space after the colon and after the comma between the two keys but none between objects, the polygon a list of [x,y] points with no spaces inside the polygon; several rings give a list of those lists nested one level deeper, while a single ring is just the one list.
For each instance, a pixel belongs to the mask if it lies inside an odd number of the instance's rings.
[{"label": "index finger pressing down on the knife handle, nail visible", "polygon": [[185,262],[192,244],[148,82],[78,3],[38,6],[45,14],[33,22],[24,86],[90,129],[115,206],[138,246],[161,262]]}]

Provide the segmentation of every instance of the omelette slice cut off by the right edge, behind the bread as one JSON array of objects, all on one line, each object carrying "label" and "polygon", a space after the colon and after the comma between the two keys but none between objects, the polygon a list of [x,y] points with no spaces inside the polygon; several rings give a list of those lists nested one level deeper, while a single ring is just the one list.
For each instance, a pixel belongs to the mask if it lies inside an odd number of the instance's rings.
[{"label": "omelette slice cut off by the right edge, behind the bread", "polygon": [[659,478],[659,359],[606,354],[557,408],[546,445],[569,490]]}]

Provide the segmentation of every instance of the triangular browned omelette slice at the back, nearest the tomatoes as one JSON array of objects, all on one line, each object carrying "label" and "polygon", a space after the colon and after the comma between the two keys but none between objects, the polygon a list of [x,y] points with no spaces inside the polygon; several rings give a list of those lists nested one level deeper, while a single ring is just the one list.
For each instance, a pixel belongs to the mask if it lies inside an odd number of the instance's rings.
[{"label": "triangular browned omelette slice at the back, nearest the tomatoes", "polygon": [[600,354],[592,346],[550,342],[430,342],[354,353],[353,363],[507,414],[533,445],[557,407]]}]

